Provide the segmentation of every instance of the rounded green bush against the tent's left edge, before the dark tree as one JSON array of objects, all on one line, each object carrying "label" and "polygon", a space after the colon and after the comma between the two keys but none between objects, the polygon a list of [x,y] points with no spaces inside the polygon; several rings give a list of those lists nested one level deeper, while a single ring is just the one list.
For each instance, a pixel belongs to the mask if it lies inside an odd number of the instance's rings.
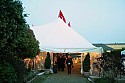
[{"label": "rounded green bush against the tent's left edge, before the dark tree", "polygon": [[22,34],[22,37],[18,41],[18,47],[15,48],[15,50],[17,50],[18,58],[33,58],[39,52],[39,42],[36,41],[35,37],[29,32],[29,30],[30,29],[27,30],[27,34]]}]

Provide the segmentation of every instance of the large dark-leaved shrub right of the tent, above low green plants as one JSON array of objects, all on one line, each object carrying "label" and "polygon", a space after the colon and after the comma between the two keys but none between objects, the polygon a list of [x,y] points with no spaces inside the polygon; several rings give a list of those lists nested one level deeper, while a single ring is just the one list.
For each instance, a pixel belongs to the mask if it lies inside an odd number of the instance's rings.
[{"label": "large dark-leaved shrub right of the tent, above low green plants", "polygon": [[114,50],[110,53],[104,53],[101,57],[101,66],[104,71],[113,71],[116,76],[118,72],[123,71],[123,65],[121,63],[121,50]]}]

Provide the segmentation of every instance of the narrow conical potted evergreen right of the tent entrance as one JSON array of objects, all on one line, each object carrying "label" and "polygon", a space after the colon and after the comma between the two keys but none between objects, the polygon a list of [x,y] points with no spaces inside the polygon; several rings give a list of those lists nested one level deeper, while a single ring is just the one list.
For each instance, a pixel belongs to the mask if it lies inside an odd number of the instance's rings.
[{"label": "narrow conical potted evergreen right of the tent entrance", "polygon": [[90,70],[90,54],[88,53],[83,61],[83,71],[88,72]]}]

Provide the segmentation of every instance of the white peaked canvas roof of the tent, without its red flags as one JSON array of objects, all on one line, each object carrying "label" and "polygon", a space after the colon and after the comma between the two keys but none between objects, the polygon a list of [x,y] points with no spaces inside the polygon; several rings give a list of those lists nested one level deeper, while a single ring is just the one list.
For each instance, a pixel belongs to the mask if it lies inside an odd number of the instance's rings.
[{"label": "white peaked canvas roof of the tent, without its red flags", "polygon": [[60,18],[42,26],[31,27],[31,29],[40,42],[41,51],[67,53],[97,51],[99,49]]}]

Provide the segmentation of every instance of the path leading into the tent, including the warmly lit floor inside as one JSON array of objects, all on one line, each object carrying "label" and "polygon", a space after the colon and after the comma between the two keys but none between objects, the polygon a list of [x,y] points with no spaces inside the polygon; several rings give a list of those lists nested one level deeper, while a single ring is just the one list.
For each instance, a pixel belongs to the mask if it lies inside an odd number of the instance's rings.
[{"label": "path leading into the tent, including the warmly lit floor inside", "polygon": [[57,74],[52,74],[43,83],[89,83],[87,79],[80,74],[80,63],[74,64],[72,74],[67,74],[65,71],[59,71]]}]

